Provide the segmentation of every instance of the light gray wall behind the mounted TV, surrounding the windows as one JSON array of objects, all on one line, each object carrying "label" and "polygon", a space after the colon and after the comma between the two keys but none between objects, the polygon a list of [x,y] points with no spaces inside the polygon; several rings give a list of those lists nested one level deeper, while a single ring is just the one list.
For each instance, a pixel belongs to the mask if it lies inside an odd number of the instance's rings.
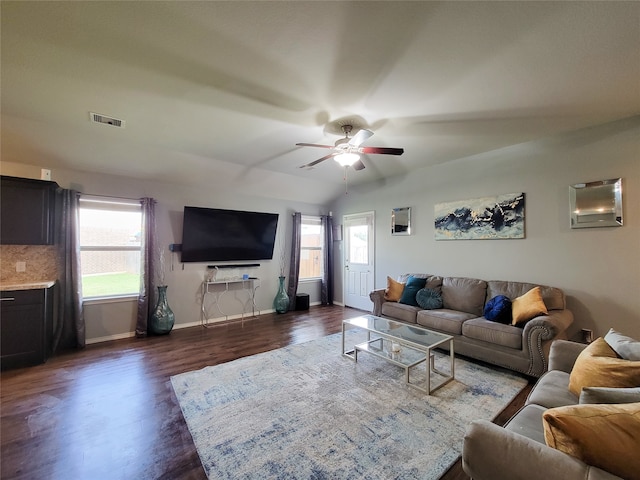
[{"label": "light gray wall behind the mounted TV, surrounding the windows", "polygon": [[[4,162],[3,175],[39,178],[39,166],[27,166]],[[272,311],[272,302],[278,287],[279,253],[278,246],[286,242],[287,251],[290,245],[292,214],[300,211],[307,215],[326,215],[328,211],[321,206],[307,203],[292,203],[259,197],[248,197],[231,191],[214,191],[202,188],[192,188],[177,184],[159,184],[131,179],[128,177],[109,176],[102,174],[53,170],[52,180],[63,188],[72,188],[83,193],[94,195],[121,196],[125,198],[153,197],[156,205],[156,222],[158,244],[165,249],[166,284],[169,305],[176,317],[176,327],[197,325],[200,323],[201,285],[205,277],[207,264],[221,264],[225,262],[180,263],[178,253],[170,253],[171,243],[181,243],[182,240],[182,211],[185,205],[210,208],[228,208],[234,210],[251,210],[279,213],[278,230],[276,234],[276,249],[273,260],[256,262],[226,262],[226,263],[259,263],[260,267],[242,269],[241,271],[221,270],[222,275],[242,275],[250,273],[259,277],[260,287],[256,292],[256,304],[260,311]],[[288,274],[288,265],[285,270]],[[320,301],[319,283],[300,284],[299,293],[309,293],[310,302]],[[246,297],[230,291],[225,294],[223,311],[231,318],[242,312],[242,301]],[[210,309],[210,317],[222,320],[215,309]],[[89,302],[84,306],[86,321],[87,343],[123,338],[131,336],[135,330],[136,302],[133,300]]]}]

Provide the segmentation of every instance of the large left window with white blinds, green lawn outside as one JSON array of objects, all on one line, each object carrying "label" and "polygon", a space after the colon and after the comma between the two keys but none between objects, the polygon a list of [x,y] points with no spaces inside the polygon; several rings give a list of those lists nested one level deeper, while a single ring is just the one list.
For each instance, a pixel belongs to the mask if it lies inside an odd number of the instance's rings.
[{"label": "large left window with white blinds, green lawn outside", "polygon": [[80,198],[83,298],[140,291],[142,210],[134,200]]}]

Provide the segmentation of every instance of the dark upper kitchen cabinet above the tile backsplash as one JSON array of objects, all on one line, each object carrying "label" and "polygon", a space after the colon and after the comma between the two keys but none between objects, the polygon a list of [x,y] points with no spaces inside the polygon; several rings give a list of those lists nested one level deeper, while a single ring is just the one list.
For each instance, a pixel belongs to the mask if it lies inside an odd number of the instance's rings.
[{"label": "dark upper kitchen cabinet above the tile backsplash", "polygon": [[0,243],[53,245],[58,185],[45,180],[2,176]]}]

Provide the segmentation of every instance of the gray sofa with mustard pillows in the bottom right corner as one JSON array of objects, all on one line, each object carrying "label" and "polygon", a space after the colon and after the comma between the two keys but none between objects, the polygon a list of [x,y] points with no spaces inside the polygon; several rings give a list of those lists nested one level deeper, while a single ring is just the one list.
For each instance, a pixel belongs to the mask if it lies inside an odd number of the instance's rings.
[{"label": "gray sofa with mustard pillows in the bottom right corner", "polygon": [[504,427],[469,425],[462,468],[474,480],[638,480],[639,449],[640,342],[610,330],[589,346],[553,342]]}]

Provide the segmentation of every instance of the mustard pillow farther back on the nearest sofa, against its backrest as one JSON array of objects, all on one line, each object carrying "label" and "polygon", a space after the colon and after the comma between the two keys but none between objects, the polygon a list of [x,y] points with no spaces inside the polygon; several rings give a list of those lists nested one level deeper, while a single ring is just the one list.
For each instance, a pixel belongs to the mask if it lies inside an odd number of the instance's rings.
[{"label": "mustard pillow farther back on the nearest sofa, against its backrest", "polygon": [[638,386],[640,361],[618,358],[602,337],[580,352],[569,376],[569,390],[578,397],[582,387]]}]

